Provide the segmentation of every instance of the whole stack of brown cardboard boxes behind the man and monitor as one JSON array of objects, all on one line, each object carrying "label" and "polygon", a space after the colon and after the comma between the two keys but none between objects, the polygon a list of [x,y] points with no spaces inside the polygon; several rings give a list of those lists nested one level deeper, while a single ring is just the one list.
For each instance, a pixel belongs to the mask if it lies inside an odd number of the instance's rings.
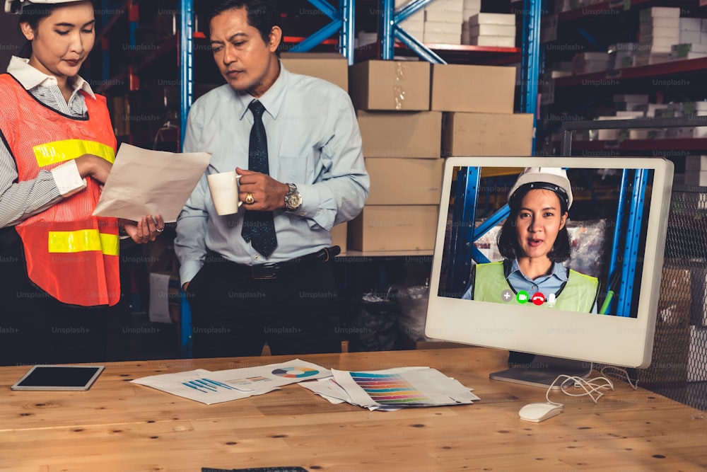
[{"label": "whole stack of brown cardboard boxes behind the man and monitor", "polygon": [[532,154],[532,115],[513,113],[514,67],[380,60],[348,67],[341,55],[325,53],[283,54],[282,61],[348,89],[356,108],[371,185],[348,238],[339,236],[342,248],[431,251],[441,158]]}]

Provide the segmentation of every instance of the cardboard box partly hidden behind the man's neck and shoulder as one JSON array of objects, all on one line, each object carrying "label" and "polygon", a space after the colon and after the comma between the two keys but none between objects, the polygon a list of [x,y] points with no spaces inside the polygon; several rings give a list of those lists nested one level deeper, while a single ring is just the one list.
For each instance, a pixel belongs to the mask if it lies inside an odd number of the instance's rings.
[{"label": "cardboard box partly hidden behind the man's neck and shoulder", "polygon": [[280,60],[288,71],[318,77],[349,91],[349,62],[338,52],[283,52]]}]

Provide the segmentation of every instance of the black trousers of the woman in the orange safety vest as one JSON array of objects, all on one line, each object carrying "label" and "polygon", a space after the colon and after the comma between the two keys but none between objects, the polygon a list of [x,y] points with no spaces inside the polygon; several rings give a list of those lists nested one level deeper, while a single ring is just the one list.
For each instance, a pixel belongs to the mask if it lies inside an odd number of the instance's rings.
[{"label": "black trousers of the woman in the orange safety vest", "polygon": [[117,309],[60,303],[30,282],[21,241],[0,248],[0,365],[105,362]]}]

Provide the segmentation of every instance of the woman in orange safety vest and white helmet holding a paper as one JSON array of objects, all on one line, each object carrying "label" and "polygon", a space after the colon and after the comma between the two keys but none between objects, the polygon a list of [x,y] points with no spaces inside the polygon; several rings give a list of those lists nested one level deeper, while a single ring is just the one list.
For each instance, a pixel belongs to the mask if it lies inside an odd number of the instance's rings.
[{"label": "woman in orange safety vest and white helmet holding a paper", "polygon": [[0,74],[0,365],[101,362],[121,298],[119,231],[154,241],[162,217],[92,215],[115,159],[103,96],[78,76],[95,42],[89,0],[6,0],[27,39]]}]

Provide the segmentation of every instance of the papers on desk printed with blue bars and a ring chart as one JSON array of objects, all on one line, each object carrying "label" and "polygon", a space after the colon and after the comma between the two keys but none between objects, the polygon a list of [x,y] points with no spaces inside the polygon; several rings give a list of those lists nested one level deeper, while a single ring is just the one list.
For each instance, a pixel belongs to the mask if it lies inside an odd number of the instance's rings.
[{"label": "papers on desk printed with blue bars and a ring chart", "polygon": [[331,371],[317,364],[293,359],[281,364],[243,369],[215,372],[196,369],[175,374],[152,375],[134,379],[132,383],[212,405],[262,395],[284,385],[295,384],[305,379],[323,379],[331,375]]}]

